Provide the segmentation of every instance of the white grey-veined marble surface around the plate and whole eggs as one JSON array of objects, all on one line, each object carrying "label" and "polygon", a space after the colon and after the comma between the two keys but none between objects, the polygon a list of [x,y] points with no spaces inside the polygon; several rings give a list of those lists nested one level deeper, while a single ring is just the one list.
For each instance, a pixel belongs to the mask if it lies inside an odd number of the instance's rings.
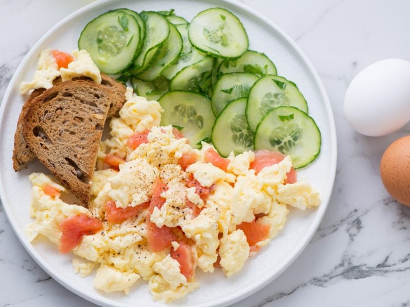
[{"label": "white grey-veined marble surface around the plate and whole eggs", "polygon": [[[90,0],[0,0],[0,97],[18,63],[57,21]],[[235,306],[410,305],[410,208],[392,200],[379,161],[410,125],[386,137],[361,136],[343,116],[348,83],[366,65],[410,60],[410,2],[242,0],[301,47],[329,94],[338,135],[333,196],[308,247],[279,278]],[[365,115],[364,115],[365,116]],[[0,204],[0,307],[92,306],[39,268],[19,243]]]}]

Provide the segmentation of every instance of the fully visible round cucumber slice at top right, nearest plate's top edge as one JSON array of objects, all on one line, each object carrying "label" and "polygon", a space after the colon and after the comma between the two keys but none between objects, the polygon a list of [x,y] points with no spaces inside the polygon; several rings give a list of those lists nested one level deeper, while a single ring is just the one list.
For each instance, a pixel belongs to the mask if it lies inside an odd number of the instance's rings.
[{"label": "fully visible round cucumber slice at top right, nearest plate's top edge", "polygon": [[199,12],[189,26],[189,40],[203,53],[237,59],[248,50],[248,34],[230,11],[212,8]]}]

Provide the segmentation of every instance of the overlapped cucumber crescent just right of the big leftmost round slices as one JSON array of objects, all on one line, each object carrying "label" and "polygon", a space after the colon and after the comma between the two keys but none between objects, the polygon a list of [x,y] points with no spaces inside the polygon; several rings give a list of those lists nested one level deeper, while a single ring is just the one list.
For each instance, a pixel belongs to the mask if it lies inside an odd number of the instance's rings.
[{"label": "overlapped cucumber crescent just right of the big leftmost round slices", "polygon": [[159,45],[162,44],[170,34],[167,19],[157,12],[141,12],[140,16],[145,21],[146,37],[139,56],[133,63],[131,74],[140,74],[149,68],[153,57],[159,54]]}]

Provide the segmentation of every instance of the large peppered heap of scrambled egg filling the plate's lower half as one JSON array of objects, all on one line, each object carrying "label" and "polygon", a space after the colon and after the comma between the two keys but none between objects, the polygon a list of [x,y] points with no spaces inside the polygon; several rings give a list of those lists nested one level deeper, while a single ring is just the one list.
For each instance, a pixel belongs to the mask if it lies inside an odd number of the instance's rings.
[{"label": "large peppered heap of scrambled egg filling the plate's lower half", "polygon": [[[119,117],[111,120],[111,138],[100,144],[98,165],[104,165],[108,153],[126,162],[119,166],[119,171],[95,171],[89,209],[67,204],[58,195],[47,195],[47,185],[61,193],[66,190],[45,174],[30,176],[30,212],[34,218],[26,229],[30,240],[41,234],[60,244],[59,225],[73,215],[87,214],[103,221],[102,231],[85,235],[73,249],[79,257],[73,260],[76,273],[87,276],[97,268],[95,288],[128,294],[142,278],[149,282],[155,300],[171,302],[199,287],[195,276],[187,279],[182,274],[180,262],[172,256],[182,244],[189,246],[194,270],[198,267],[203,272],[213,272],[220,258],[222,271],[231,277],[250,255],[283,229],[288,206],[304,210],[319,205],[319,194],[309,183],[285,184],[286,173],[292,167],[290,157],[255,174],[250,169],[255,159],[252,151],[238,156],[231,153],[227,171],[223,171],[204,158],[204,152],[212,145],[203,143],[201,150],[193,149],[186,138],[174,136],[172,126],[159,127],[162,108],[158,102],[136,97],[131,89],[126,98]],[[129,148],[130,137],[144,132],[148,133],[148,142]],[[198,161],[183,170],[178,160],[192,152]],[[148,208],[157,180],[167,185],[160,192],[163,204]],[[190,181],[194,184],[190,185]],[[209,195],[201,197],[198,184]],[[121,209],[146,205],[122,223],[109,223],[105,214],[110,201]],[[250,246],[247,236],[253,234],[238,229],[242,223],[268,227],[269,233]],[[183,238],[179,234],[168,248],[153,252],[148,242],[152,227],[149,225],[178,230]]]}]

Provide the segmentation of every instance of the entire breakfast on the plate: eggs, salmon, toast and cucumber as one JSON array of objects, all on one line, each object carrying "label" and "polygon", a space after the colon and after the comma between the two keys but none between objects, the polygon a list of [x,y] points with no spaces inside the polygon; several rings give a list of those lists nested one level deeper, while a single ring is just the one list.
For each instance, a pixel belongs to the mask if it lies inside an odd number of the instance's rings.
[{"label": "entire breakfast on the plate: eggs, salmon, toast and cucumber", "polygon": [[[32,157],[27,144],[54,175],[29,177],[29,239],[72,251],[81,277],[96,269],[96,289],[128,294],[142,278],[155,300],[171,302],[199,287],[197,269],[240,271],[283,229],[289,206],[319,205],[295,169],[318,156],[320,131],[296,84],[248,50],[231,12],[188,23],[173,10],[112,10],[78,46],[73,56],[44,51],[22,83],[34,91],[13,161]],[[79,204],[63,201],[69,192]]]}]

